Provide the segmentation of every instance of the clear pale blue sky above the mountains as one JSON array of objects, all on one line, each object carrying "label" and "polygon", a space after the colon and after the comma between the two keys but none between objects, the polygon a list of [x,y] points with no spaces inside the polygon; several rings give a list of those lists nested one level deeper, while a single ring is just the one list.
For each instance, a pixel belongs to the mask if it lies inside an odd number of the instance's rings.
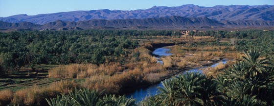
[{"label": "clear pale blue sky above the mountains", "polygon": [[153,6],[195,4],[215,5],[274,5],[274,0],[0,0],[0,17],[18,14],[37,15],[76,10],[136,10]]}]

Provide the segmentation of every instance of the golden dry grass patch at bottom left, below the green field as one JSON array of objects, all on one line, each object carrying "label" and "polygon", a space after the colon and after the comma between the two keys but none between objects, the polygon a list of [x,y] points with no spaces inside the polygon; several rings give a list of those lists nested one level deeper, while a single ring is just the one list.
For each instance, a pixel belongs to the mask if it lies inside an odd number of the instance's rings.
[{"label": "golden dry grass patch at bottom left, below the green field", "polygon": [[46,104],[45,98],[56,97],[58,94],[67,94],[69,90],[76,87],[74,82],[54,82],[44,87],[31,87],[16,91],[13,94],[12,104],[37,106]]}]

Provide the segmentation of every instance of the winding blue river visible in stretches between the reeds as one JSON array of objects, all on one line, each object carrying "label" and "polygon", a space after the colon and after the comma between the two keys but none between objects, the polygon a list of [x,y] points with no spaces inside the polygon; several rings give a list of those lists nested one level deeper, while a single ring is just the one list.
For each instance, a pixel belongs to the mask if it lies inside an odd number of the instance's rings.
[{"label": "winding blue river visible in stretches between the reeds", "polygon": [[[158,48],[156,49],[153,54],[155,55],[159,55],[159,56],[168,56],[168,55],[171,55],[172,53],[168,53],[170,51],[170,49],[166,49],[166,48]],[[160,61],[160,57],[156,57],[158,59],[157,62],[160,62],[161,64],[163,64],[162,61]],[[227,60],[222,60],[221,62],[223,64],[226,64],[226,61]],[[219,63],[216,63],[214,65],[211,65],[210,67],[215,67],[217,66]],[[189,70],[189,71],[184,71],[183,74],[185,74],[186,72],[199,72],[199,73],[202,73],[202,68],[206,68],[205,67],[200,67],[200,68],[195,68],[195,69],[192,69],[192,70]],[[166,79],[168,80],[168,79]],[[155,84],[155,85],[151,85],[149,87],[146,87],[146,88],[139,88],[137,90],[135,90],[134,92],[132,93],[129,93],[129,94],[126,94],[126,97],[130,98],[130,97],[133,97],[134,99],[137,100],[137,102],[139,101],[142,101],[146,96],[154,96],[156,95],[158,92],[158,87],[162,87],[162,84],[161,83],[158,83],[158,84]]]}]

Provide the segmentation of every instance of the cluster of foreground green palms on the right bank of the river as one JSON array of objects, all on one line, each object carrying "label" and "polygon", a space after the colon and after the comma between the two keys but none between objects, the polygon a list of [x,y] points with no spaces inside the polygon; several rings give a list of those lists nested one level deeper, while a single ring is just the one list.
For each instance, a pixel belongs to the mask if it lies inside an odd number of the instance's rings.
[{"label": "cluster of foreground green palms on the right bank of the river", "polygon": [[149,106],[273,106],[274,64],[252,50],[217,78],[187,73],[162,82],[159,94],[141,104]]}]

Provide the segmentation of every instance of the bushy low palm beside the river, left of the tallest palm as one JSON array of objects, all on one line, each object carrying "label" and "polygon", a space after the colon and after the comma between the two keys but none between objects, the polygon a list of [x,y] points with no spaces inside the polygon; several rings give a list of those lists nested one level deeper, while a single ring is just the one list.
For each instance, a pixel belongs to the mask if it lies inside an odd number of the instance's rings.
[{"label": "bushy low palm beside the river, left of the tallest palm", "polygon": [[202,74],[186,73],[162,82],[163,88],[159,88],[159,97],[162,105],[168,106],[202,106],[201,83],[206,77]]}]

